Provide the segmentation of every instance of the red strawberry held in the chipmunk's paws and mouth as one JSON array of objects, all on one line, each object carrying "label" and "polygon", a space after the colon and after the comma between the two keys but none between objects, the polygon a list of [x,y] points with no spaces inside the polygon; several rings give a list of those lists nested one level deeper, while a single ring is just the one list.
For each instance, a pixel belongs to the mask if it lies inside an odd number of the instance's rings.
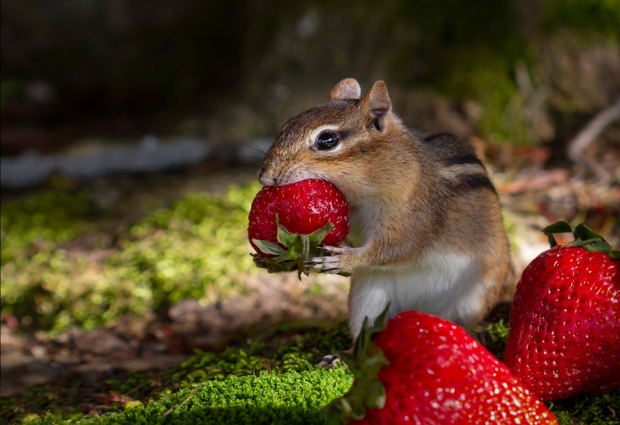
[{"label": "red strawberry held in the chipmunk's paws and mouth", "polygon": [[298,267],[301,274],[304,261],[325,255],[317,248],[319,243],[337,247],[348,230],[348,205],[342,193],[324,180],[304,180],[263,187],[252,201],[247,232],[262,257],[255,257],[257,264]]}]

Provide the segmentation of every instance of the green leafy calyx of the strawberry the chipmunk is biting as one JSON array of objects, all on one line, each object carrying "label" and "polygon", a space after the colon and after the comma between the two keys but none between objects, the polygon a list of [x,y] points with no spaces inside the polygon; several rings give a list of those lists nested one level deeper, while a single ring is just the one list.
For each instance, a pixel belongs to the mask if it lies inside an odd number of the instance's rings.
[{"label": "green leafy calyx of the strawberry the chipmunk is biting", "polygon": [[[263,268],[267,268],[269,273],[277,271],[290,271],[294,266],[298,266],[297,275],[301,280],[301,274],[308,276],[310,269],[306,266],[306,261],[316,256],[325,256],[329,253],[321,250],[321,242],[325,236],[336,227],[328,221],[321,229],[316,229],[309,235],[300,235],[289,232],[286,227],[278,221],[278,214],[275,216],[275,225],[278,228],[277,239],[286,249],[277,243],[268,240],[252,239],[252,242],[259,249],[270,255],[277,255],[275,258],[263,258],[260,254],[253,255],[254,263]],[[339,273],[342,276],[351,276],[348,273]]]}]

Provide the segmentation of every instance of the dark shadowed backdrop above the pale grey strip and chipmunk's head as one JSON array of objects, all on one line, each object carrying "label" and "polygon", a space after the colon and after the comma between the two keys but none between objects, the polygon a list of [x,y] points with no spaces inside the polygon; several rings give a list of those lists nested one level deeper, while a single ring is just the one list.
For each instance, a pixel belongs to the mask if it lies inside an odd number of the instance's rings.
[{"label": "dark shadowed backdrop above the pale grey strip and chipmunk's head", "polygon": [[3,1],[2,154],[273,137],[343,77],[425,131],[556,147],[620,93],[616,1]]}]

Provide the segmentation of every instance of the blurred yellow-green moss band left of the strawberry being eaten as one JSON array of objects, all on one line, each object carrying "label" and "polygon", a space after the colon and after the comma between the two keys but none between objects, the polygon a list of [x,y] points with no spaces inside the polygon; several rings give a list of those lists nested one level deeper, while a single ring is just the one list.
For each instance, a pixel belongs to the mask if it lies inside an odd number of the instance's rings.
[{"label": "blurred yellow-green moss band left of the strawberry being eaten", "polygon": [[206,305],[239,291],[253,270],[246,229],[257,191],[246,185],[221,196],[186,195],[138,222],[104,260],[62,245],[94,226],[87,192],[9,202],[1,209],[2,312],[60,332],[143,316],[183,297]]}]

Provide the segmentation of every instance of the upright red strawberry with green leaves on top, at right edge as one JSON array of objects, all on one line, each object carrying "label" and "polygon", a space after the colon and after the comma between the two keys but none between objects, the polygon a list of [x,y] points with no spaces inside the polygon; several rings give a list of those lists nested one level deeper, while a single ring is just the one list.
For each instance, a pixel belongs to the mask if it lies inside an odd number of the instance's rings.
[{"label": "upright red strawberry with green leaves on top, at right edge", "polygon": [[[600,235],[565,222],[516,287],[504,362],[542,400],[620,388],[620,261]],[[552,233],[575,242],[557,245]]]}]

